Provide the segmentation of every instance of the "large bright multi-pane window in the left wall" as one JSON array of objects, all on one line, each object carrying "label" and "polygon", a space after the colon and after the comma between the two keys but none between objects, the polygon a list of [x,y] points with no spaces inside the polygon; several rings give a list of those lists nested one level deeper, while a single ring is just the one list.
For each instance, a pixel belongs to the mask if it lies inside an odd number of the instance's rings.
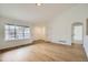
[{"label": "large bright multi-pane window in the left wall", "polygon": [[6,40],[25,40],[30,37],[30,28],[20,25],[6,25]]}]

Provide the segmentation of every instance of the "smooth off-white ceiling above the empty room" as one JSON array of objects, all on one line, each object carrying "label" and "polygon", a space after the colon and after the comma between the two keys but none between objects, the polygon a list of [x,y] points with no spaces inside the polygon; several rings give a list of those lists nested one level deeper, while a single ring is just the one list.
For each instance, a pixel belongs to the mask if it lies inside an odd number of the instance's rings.
[{"label": "smooth off-white ceiling above the empty room", "polygon": [[22,20],[28,22],[50,21],[57,14],[70,9],[76,4],[46,3],[0,3],[0,15],[4,18]]}]

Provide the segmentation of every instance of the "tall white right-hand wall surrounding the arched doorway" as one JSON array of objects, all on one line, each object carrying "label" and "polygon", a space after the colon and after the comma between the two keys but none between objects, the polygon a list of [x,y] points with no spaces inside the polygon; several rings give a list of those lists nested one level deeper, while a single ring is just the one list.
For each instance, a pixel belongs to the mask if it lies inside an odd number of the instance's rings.
[{"label": "tall white right-hand wall surrounding the arched doorway", "polygon": [[66,41],[63,44],[71,44],[71,24],[75,22],[84,23],[84,46],[88,54],[88,35],[86,35],[86,20],[88,19],[88,4],[78,4],[57,15],[48,26],[49,41],[58,43],[60,40]]}]

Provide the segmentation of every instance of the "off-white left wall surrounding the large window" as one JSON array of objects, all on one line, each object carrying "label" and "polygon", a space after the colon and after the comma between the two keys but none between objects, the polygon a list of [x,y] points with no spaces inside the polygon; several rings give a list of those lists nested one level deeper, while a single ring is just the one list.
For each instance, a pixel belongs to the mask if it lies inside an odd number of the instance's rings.
[{"label": "off-white left wall surrounding the large window", "polygon": [[12,46],[17,46],[17,45],[31,43],[31,41],[32,41],[31,39],[19,40],[19,41],[4,41],[4,25],[7,23],[31,26],[30,24],[25,23],[25,22],[6,19],[6,18],[0,18],[0,50],[6,48],[6,47],[12,47]]}]

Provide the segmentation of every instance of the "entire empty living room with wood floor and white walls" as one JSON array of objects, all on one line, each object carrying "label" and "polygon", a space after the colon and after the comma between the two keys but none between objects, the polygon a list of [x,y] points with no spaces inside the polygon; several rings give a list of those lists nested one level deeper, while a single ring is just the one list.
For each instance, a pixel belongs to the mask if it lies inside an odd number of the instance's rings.
[{"label": "entire empty living room with wood floor and white walls", "polygon": [[88,3],[0,3],[0,62],[88,62]]}]

